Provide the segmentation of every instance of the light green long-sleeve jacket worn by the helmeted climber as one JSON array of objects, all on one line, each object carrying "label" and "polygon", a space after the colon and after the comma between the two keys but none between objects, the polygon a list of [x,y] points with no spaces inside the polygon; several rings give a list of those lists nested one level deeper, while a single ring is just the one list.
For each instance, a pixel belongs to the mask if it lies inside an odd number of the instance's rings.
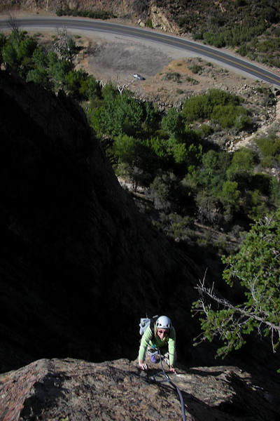
[{"label": "light green long-sleeve jacket worn by the helmeted climber", "polygon": [[176,332],[174,327],[172,326],[169,329],[169,335],[165,336],[163,340],[157,335],[157,328],[154,326],[155,335],[150,327],[146,328],[140,343],[138,359],[141,361],[145,361],[146,350],[148,347],[153,347],[155,345],[157,348],[168,347],[169,352],[169,361],[170,364],[173,366],[174,362],[176,361]]}]

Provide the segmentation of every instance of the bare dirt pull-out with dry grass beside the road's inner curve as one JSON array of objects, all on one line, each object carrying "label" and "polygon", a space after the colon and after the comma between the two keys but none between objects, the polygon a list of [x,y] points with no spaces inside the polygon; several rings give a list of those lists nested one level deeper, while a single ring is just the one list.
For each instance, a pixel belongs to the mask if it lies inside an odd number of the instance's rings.
[{"label": "bare dirt pull-out with dry grass beside the road's inner curve", "polygon": [[[130,90],[140,97],[165,105],[180,105],[191,95],[209,88],[236,92],[241,86],[255,83],[192,53],[152,42],[143,44],[120,36],[83,34],[76,43],[82,47],[76,61],[78,67],[96,79],[129,84]],[[134,79],[134,73],[141,74],[145,80]]]}]

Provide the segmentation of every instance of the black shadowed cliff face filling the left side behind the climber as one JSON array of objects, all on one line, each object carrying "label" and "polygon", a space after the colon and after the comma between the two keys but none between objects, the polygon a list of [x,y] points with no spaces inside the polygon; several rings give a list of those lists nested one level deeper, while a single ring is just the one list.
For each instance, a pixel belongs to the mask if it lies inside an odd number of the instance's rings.
[{"label": "black shadowed cliff face filling the left side behind the climber", "polygon": [[172,316],[184,353],[193,263],[137,212],[79,107],[0,78],[0,370],[135,358],[146,312]]}]

